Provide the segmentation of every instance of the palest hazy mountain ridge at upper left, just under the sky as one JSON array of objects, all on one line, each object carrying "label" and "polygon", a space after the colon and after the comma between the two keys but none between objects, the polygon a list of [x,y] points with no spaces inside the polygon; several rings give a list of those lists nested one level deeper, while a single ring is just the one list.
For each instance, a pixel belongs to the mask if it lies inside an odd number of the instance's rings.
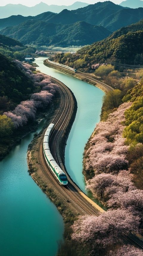
[{"label": "palest hazy mountain ridge at upper left, just under the sky", "polygon": [[75,10],[88,4],[82,2],[75,2],[72,5],[48,5],[43,2],[36,4],[33,7],[28,7],[22,4],[7,4],[5,6],[0,6],[0,18],[7,18],[12,15],[23,15],[23,16],[36,16],[43,12],[54,12],[60,13],[64,9]]}]

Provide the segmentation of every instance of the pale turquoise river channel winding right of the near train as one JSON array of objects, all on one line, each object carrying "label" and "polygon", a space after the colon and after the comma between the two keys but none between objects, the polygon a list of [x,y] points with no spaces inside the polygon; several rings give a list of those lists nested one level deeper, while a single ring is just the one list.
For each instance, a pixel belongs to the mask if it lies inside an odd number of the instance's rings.
[{"label": "pale turquoise river channel winding right of the near train", "polygon": [[[38,70],[57,78],[74,93],[77,100],[77,115],[71,128],[65,150],[66,169],[80,187],[80,189],[92,197],[85,189],[83,170],[83,153],[88,138],[91,136],[96,124],[100,121],[102,97],[105,95],[99,88],[83,82],[75,77],[62,73],[43,64],[45,57],[36,58]],[[96,200],[94,200],[96,201]],[[96,201],[99,205],[100,203]]]}]

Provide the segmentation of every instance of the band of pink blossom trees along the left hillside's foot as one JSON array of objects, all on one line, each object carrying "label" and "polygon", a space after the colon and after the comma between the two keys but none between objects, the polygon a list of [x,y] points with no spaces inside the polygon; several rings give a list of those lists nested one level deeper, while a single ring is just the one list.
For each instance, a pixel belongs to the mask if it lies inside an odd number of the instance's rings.
[{"label": "band of pink blossom trees along the left hillside's foot", "polygon": [[35,88],[41,89],[40,92],[32,94],[30,100],[22,101],[13,112],[4,113],[4,115],[12,119],[14,127],[17,129],[19,126],[27,124],[30,119],[34,120],[38,108],[46,107],[52,102],[52,97],[58,86],[51,82],[49,76],[36,72],[36,69],[31,65],[23,64],[18,60],[15,63],[33,81]]}]

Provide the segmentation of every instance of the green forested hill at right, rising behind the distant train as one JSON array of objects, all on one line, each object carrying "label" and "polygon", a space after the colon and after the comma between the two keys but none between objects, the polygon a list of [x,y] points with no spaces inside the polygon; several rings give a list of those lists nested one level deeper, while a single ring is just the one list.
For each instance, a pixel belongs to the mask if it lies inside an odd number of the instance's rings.
[{"label": "green forested hill at right, rising behind the distant train", "polygon": [[[131,31],[131,32],[129,32]],[[76,54],[57,54],[56,62],[82,68],[108,60],[120,63],[143,64],[143,20],[114,32],[108,38],[81,48]]]}]

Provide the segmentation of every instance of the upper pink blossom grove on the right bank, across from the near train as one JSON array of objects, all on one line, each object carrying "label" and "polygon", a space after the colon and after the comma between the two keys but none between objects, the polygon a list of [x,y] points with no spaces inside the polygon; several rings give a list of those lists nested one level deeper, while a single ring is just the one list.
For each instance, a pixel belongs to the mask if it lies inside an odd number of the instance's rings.
[{"label": "upper pink blossom grove on the right bank, across from the near train", "polygon": [[125,138],[122,138],[122,121],[125,120],[125,110],[130,106],[131,103],[123,103],[117,111],[109,115],[107,121],[97,125],[85,153],[87,171],[93,169],[95,174],[117,174],[128,168],[126,155],[129,147],[124,144]]}]

